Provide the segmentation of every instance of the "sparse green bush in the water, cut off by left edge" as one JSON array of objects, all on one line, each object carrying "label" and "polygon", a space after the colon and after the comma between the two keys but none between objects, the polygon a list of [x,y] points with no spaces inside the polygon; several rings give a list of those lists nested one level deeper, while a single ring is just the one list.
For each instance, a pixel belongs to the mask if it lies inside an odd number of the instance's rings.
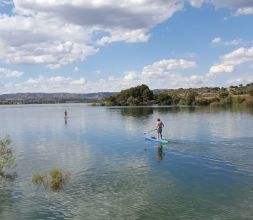
[{"label": "sparse green bush in the water, cut off by left edge", "polygon": [[13,150],[9,147],[11,140],[9,137],[0,139],[0,178],[14,179],[16,174],[11,173],[15,165]]}]

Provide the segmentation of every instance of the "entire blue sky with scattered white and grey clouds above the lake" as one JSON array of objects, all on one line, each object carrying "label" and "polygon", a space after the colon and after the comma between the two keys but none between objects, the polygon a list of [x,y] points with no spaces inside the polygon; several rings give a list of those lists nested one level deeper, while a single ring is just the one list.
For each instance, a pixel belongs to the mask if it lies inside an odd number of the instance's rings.
[{"label": "entire blue sky with scattered white and grey clouds above the lake", "polygon": [[253,82],[253,0],[0,0],[0,94]]}]

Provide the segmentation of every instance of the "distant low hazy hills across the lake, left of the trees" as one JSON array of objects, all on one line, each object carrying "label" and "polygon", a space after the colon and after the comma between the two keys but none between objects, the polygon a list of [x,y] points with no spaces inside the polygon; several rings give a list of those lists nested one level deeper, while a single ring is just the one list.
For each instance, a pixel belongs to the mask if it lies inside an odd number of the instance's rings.
[{"label": "distant low hazy hills across the lake, left of the trees", "polygon": [[31,103],[66,103],[66,102],[92,102],[115,93],[14,93],[0,95],[0,104],[31,104]]}]

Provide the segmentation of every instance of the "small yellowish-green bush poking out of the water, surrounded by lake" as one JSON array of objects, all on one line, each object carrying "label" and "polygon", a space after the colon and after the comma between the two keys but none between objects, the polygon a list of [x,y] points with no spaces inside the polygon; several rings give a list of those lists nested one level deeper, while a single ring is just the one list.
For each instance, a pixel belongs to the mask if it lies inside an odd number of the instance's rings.
[{"label": "small yellowish-green bush poking out of the water, surrounded by lake", "polygon": [[70,174],[59,168],[54,168],[47,173],[36,173],[32,176],[32,182],[36,185],[42,185],[45,189],[62,190],[69,183]]}]

